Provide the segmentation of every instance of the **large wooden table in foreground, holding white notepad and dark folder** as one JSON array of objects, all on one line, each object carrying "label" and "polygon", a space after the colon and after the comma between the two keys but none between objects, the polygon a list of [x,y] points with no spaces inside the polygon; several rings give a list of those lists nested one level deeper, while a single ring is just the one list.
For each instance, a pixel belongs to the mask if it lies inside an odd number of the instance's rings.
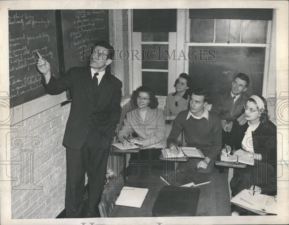
[{"label": "large wooden table in foreground, holding white notepad and dark folder", "polygon": [[[110,194],[115,198],[120,194],[123,186],[149,189],[141,208],[115,205],[110,217],[152,217],[151,211],[159,189],[165,185],[164,181],[160,179],[162,174],[164,174],[163,170],[149,170],[148,167],[140,166],[140,170],[133,170],[125,184],[112,184],[106,187],[101,197],[102,200]],[[199,173],[198,175],[208,177],[211,183],[199,186],[201,193],[196,216],[231,215],[227,174]]]}]

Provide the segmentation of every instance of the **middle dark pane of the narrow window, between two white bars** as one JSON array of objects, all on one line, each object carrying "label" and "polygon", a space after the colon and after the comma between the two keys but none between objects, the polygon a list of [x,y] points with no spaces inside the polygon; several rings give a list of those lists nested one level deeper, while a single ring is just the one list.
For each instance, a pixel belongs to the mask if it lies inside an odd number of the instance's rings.
[{"label": "middle dark pane of the narrow window, between two white bars", "polygon": [[142,44],[142,69],[168,69],[168,44]]}]

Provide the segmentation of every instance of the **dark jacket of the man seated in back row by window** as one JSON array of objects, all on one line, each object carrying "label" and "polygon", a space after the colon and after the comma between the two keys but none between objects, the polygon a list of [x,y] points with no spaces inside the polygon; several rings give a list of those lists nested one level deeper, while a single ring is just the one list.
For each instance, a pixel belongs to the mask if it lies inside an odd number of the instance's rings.
[{"label": "dark jacket of the man seated in back row by window", "polygon": [[219,116],[221,120],[232,121],[244,113],[244,105],[248,98],[249,96],[242,92],[234,103],[231,89],[225,92],[218,92],[210,111]]}]

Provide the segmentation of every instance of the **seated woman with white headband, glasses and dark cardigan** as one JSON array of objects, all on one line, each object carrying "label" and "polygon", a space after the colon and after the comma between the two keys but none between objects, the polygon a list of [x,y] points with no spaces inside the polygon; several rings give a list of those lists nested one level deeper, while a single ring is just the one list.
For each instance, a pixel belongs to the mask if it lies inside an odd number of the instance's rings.
[{"label": "seated woman with white headband, glasses and dark cardigan", "polygon": [[[244,108],[245,113],[234,122],[227,149],[228,154],[235,149],[236,156],[253,157],[254,166],[234,168],[230,181],[232,195],[246,188],[251,195],[275,195],[277,183],[272,178],[277,176],[276,126],[269,120],[267,102],[262,96],[252,95]],[[227,156],[225,149],[222,155]],[[238,215],[238,211],[233,214]]]}]

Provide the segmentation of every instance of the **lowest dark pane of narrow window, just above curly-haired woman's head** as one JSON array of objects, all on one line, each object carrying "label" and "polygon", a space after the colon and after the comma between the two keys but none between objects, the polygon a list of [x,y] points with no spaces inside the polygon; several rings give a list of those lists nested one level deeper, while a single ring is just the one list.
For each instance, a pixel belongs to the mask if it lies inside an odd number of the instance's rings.
[{"label": "lowest dark pane of narrow window, just above curly-haired woman's head", "polygon": [[142,71],[142,85],[148,86],[154,95],[168,95],[168,73],[167,72],[144,72]]}]

